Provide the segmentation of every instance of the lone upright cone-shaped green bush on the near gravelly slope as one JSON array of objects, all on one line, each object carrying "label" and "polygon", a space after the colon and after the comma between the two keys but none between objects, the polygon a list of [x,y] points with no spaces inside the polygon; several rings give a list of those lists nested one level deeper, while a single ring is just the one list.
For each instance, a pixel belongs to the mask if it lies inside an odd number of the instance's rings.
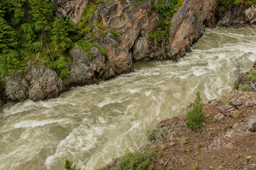
[{"label": "lone upright cone-shaped green bush on the near gravelly slope", "polygon": [[192,103],[192,110],[186,114],[186,125],[191,130],[197,130],[204,123],[204,112],[203,112],[203,102],[200,97],[200,92],[196,93],[195,102]]}]

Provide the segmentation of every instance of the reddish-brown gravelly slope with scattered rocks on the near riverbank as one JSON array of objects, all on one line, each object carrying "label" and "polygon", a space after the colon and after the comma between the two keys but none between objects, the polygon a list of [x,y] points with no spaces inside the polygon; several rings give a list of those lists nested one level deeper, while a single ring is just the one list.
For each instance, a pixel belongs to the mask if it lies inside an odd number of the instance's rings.
[{"label": "reddish-brown gravelly slope with scattered rocks on the near riverbank", "polygon": [[233,90],[203,110],[206,120],[198,132],[186,127],[184,114],[158,123],[150,144],[140,149],[154,150],[154,170],[255,170],[256,94]]}]

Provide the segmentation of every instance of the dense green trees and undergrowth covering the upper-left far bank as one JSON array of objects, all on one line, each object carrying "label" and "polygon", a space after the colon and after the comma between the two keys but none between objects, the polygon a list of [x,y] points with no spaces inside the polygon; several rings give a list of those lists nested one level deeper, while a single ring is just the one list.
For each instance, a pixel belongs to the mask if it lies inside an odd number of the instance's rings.
[{"label": "dense green trees and undergrowth covering the upper-left far bank", "polygon": [[[34,59],[35,65],[44,63],[56,71],[60,78],[70,74],[69,50],[72,44],[83,48],[106,49],[93,43],[94,35],[104,37],[105,26],[99,22],[93,32],[90,17],[102,0],[89,0],[81,22],[74,26],[70,18],[56,18],[56,5],[52,0],[2,0],[0,2],[0,77],[23,74],[26,63]],[[90,34],[90,40],[80,40]]]}]

